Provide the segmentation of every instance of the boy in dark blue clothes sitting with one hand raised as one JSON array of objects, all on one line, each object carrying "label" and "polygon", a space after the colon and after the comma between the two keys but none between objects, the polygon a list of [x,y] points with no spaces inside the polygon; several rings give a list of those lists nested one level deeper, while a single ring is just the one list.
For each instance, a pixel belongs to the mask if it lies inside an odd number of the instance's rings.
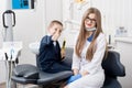
[{"label": "boy in dark blue clothes sitting with one hand raised", "polygon": [[70,66],[62,62],[65,52],[61,51],[58,37],[63,31],[63,24],[54,20],[51,22],[48,35],[45,35],[41,41],[40,54],[37,56],[37,65],[40,70],[46,73],[58,73],[63,70],[70,70]]}]

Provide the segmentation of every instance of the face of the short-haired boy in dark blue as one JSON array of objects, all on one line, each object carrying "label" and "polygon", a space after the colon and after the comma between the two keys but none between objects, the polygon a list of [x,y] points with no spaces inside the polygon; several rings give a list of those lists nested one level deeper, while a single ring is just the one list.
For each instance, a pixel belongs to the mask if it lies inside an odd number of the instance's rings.
[{"label": "face of the short-haired boy in dark blue", "polygon": [[62,31],[63,31],[63,26],[61,24],[53,24],[50,29],[50,34],[54,35],[55,33],[57,33],[58,35],[61,35]]}]

